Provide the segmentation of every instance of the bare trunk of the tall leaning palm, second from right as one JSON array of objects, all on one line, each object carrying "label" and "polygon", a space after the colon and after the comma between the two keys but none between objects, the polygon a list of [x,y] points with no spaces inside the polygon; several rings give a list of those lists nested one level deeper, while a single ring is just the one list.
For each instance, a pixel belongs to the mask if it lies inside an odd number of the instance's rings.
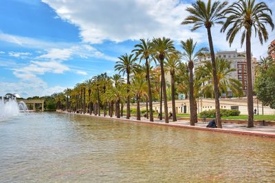
[{"label": "bare trunk of the tall leaning palm, second from right", "polygon": [[215,61],[215,57],[214,57],[214,47],[213,47],[210,27],[207,28],[207,34],[208,34],[208,42],[209,42],[209,47],[210,47],[210,55],[211,55],[211,61],[212,61],[212,73],[213,73],[213,80],[214,80],[214,98],[215,98],[216,121],[217,121],[218,127],[222,128],[221,112],[220,112],[220,108],[219,108],[219,88],[218,88],[216,61]]}]

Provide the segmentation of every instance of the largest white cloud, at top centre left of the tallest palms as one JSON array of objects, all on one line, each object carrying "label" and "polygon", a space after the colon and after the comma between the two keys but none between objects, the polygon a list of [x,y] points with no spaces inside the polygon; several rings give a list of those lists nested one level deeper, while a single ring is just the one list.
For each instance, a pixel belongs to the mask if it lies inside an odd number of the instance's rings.
[{"label": "largest white cloud, at top centre left of the tallest palms", "polygon": [[122,42],[153,36],[175,40],[201,37],[180,24],[187,15],[188,4],[179,0],[43,2],[56,10],[61,19],[77,25],[85,42]]}]

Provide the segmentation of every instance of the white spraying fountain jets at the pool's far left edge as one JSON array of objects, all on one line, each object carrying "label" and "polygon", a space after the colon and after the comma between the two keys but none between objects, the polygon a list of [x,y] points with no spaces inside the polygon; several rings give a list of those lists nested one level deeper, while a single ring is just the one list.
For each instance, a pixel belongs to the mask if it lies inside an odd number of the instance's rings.
[{"label": "white spraying fountain jets at the pool's far left edge", "polygon": [[28,112],[26,104],[23,101],[18,103],[17,98],[20,98],[17,93],[7,93],[5,97],[0,97],[0,121]]}]

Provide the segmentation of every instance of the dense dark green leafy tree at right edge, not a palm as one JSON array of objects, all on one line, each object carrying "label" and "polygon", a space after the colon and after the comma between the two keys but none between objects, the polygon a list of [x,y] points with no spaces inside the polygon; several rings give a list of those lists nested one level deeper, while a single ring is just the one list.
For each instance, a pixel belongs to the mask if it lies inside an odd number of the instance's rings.
[{"label": "dense dark green leafy tree at right edge, not a palm", "polygon": [[256,77],[255,90],[257,98],[265,106],[275,109],[275,65],[272,65]]}]

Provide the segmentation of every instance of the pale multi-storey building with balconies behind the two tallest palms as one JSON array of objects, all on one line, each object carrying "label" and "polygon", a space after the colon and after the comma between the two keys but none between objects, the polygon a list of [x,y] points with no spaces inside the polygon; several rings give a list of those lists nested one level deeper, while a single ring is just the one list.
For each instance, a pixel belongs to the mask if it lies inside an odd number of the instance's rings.
[{"label": "pale multi-storey building with balconies behind the two tallest palms", "polygon": [[[232,78],[239,80],[241,84],[243,85],[243,94],[247,95],[248,90],[248,75],[247,75],[247,65],[246,65],[246,58],[245,58],[245,52],[237,52],[234,51],[217,51],[215,53],[215,56],[218,58],[224,58],[226,60],[229,60],[231,62],[231,68],[236,69],[236,71],[231,72]],[[210,61],[210,56],[205,56],[198,58],[194,62],[195,68],[203,62]],[[256,58],[253,58],[252,56],[252,84],[254,85],[255,81],[255,65],[256,65]],[[232,92],[230,90],[228,91],[230,97],[232,97]]]}]

